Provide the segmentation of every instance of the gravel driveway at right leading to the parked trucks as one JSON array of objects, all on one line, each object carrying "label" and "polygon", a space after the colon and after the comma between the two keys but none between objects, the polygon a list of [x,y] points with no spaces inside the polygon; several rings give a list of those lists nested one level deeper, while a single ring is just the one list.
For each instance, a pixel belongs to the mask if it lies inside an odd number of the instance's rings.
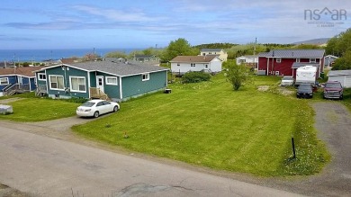
[{"label": "gravel driveway at right leading to the parked trucks", "polygon": [[351,196],[351,113],[336,102],[311,103],[315,128],[327,144],[331,162],[320,175],[297,180],[264,180],[262,184],[311,196]]}]

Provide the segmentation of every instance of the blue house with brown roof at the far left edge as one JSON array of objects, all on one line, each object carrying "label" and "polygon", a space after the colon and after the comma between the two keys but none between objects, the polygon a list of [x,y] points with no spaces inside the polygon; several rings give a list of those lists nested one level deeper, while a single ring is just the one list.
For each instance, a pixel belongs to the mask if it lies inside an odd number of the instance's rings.
[{"label": "blue house with brown roof at the far left edge", "polygon": [[34,91],[34,71],[40,67],[0,68],[0,96]]}]

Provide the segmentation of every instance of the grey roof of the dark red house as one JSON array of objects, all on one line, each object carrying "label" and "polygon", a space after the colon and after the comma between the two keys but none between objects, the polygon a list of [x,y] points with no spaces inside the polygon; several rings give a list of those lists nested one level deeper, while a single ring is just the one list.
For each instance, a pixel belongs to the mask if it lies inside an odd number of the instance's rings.
[{"label": "grey roof of the dark red house", "polygon": [[323,58],[325,49],[274,49],[260,53],[260,57],[267,58]]}]

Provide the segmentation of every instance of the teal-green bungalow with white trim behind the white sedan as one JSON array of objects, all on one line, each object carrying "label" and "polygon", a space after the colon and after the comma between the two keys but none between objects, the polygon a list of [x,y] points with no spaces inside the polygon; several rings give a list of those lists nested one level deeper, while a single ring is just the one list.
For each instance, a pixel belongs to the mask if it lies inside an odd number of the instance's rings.
[{"label": "teal-green bungalow with white trim behind the white sedan", "polygon": [[163,90],[167,68],[128,62],[61,64],[36,71],[37,94],[52,98],[84,97],[124,101]]}]

